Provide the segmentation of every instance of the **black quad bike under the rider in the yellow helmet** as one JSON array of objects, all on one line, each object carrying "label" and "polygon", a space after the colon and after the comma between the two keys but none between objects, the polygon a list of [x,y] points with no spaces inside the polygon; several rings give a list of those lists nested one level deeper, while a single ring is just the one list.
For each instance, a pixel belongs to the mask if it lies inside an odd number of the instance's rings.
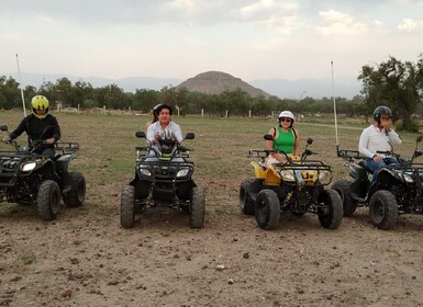
[{"label": "black quad bike under the rider in the yellow helmet", "polygon": [[[7,125],[1,125],[8,132]],[[60,200],[68,207],[81,206],[86,196],[86,180],[80,172],[69,172],[69,162],[76,158],[77,143],[56,143],[54,159],[35,154],[45,145],[32,140],[31,147],[20,146],[15,140],[8,141],[14,150],[0,151],[0,202],[36,205],[44,220],[57,217]]]}]

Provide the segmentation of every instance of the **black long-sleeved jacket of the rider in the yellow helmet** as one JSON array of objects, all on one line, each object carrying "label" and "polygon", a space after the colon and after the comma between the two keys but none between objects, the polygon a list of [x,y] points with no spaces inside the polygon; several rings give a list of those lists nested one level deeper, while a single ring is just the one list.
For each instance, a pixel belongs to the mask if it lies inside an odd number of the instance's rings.
[{"label": "black long-sleeved jacket of the rider in the yellow helmet", "polygon": [[[52,127],[49,133],[44,134],[47,127]],[[19,137],[23,132],[27,135],[27,144],[31,147],[31,140],[44,140],[47,138],[54,138],[56,141],[60,138],[60,126],[55,116],[47,114],[45,118],[41,120],[34,114],[27,115],[19,124],[18,128],[10,134],[10,138]],[[54,147],[54,145],[47,145],[47,147]]]}]

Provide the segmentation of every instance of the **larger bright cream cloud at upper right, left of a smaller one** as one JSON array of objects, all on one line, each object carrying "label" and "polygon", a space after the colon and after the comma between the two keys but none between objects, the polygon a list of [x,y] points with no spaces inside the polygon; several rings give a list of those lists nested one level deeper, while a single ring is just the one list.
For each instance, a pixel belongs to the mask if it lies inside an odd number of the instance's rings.
[{"label": "larger bright cream cloud at upper right, left of a smaller one", "polygon": [[320,11],[316,32],[323,36],[329,35],[358,35],[367,32],[367,24],[355,21],[349,14],[335,10]]}]

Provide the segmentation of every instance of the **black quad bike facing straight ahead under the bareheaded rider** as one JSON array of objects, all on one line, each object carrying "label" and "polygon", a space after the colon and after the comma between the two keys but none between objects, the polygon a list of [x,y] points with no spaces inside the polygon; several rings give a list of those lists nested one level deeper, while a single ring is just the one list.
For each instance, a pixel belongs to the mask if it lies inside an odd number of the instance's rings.
[{"label": "black quad bike facing straight ahead under the bareheaded rider", "polygon": [[[144,132],[135,136],[146,138]],[[188,133],[183,140],[193,138],[194,134]],[[172,137],[159,137],[156,145],[148,141],[148,146],[135,149],[135,177],[122,189],[121,226],[133,227],[135,214],[143,211],[175,209],[189,214],[191,228],[201,228],[205,200],[203,190],[192,180],[189,149]]]}]

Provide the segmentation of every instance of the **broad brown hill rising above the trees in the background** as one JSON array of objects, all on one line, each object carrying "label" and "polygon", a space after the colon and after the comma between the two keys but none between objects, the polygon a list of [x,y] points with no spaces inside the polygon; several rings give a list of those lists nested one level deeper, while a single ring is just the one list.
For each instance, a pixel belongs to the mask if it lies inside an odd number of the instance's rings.
[{"label": "broad brown hill rising above the trees in the background", "polygon": [[187,88],[190,92],[200,92],[207,94],[219,94],[224,91],[235,91],[241,89],[244,92],[247,92],[252,96],[265,96],[269,98],[270,94],[254,88],[253,86],[244,82],[240,78],[235,78],[229,73],[222,71],[207,71],[200,75],[197,75],[193,78],[190,78],[177,88]]}]

